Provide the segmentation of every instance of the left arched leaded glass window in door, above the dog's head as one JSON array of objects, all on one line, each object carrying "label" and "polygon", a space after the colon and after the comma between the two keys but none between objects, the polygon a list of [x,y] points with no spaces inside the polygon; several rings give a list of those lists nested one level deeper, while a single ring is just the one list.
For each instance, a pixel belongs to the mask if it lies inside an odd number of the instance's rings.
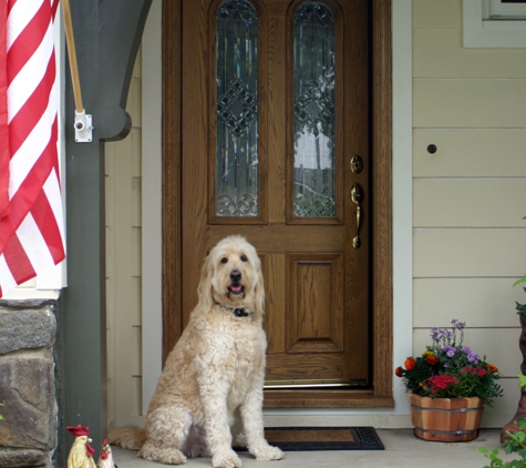
[{"label": "left arched leaded glass window in door, above the dog's head", "polygon": [[217,11],[216,215],[257,216],[258,14],[246,0]]}]

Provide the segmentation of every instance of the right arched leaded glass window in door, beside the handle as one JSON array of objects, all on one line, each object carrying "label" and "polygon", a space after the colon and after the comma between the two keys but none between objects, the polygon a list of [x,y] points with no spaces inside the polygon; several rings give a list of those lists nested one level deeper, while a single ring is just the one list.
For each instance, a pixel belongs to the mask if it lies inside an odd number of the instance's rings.
[{"label": "right arched leaded glass window in door, beside the handle", "polygon": [[295,216],[334,216],[334,17],[302,3],[293,26]]}]

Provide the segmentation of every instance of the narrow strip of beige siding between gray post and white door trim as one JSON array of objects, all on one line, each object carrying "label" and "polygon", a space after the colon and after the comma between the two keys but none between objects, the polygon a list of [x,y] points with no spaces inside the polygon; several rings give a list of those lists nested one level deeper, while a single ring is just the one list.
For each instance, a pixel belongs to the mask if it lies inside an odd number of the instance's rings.
[{"label": "narrow strip of beige siding between gray post and white door trim", "polygon": [[126,111],[132,118],[130,134],[105,149],[110,425],[142,415],[141,52]]}]

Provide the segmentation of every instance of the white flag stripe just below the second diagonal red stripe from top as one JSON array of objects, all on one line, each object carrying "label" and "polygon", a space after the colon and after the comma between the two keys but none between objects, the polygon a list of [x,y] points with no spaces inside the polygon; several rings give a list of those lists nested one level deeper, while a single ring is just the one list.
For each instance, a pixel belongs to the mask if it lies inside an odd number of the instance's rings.
[{"label": "white flag stripe just below the second diagonal red stripe from top", "polygon": [[50,142],[52,124],[56,116],[55,90],[56,80],[50,93],[48,109],[37,125],[34,125],[29,136],[11,157],[11,162],[9,163],[9,200],[11,200],[20,189],[20,185]]}]

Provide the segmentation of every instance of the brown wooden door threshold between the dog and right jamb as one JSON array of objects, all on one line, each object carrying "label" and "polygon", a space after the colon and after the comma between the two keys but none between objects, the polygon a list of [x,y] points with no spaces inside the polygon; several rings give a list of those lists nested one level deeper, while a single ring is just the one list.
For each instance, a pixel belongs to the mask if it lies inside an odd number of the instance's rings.
[{"label": "brown wooden door threshold between the dog and right jamb", "polygon": [[264,408],[392,408],[392,396],[355,389],[265,389]]}]

